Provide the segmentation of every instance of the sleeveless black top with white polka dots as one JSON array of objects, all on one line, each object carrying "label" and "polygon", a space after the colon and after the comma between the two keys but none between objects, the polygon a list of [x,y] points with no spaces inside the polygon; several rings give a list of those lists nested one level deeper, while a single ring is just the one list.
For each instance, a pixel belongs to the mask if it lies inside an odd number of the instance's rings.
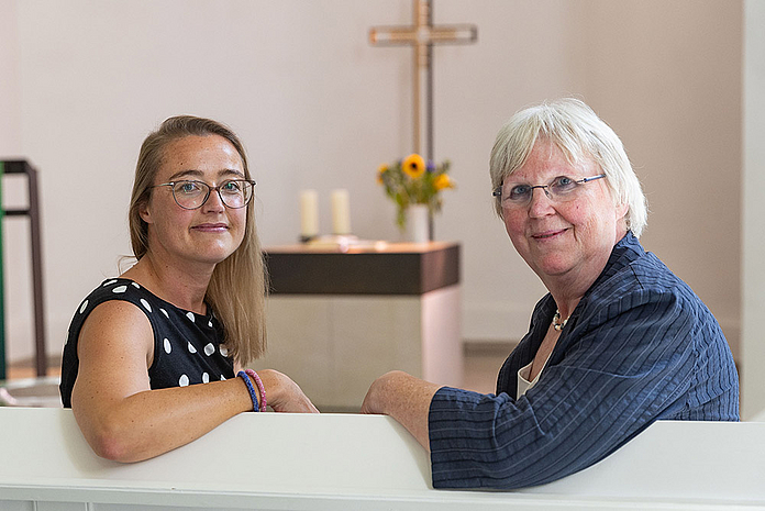
[{"label": "sleeveless black top with white polka dots", "polygon": [[154,363],[148,368],[152,389],[186,387],[234,377],[233,362],[223,340],[223,327],[208,307],[208,314],[186,311],[123,278],[101,284],[75,312],[62,359],[62,402],[71,408],[77,379],[77,340],[85,320],[97,306],[122,300],[133,303],[148,318],[154,331]]}]

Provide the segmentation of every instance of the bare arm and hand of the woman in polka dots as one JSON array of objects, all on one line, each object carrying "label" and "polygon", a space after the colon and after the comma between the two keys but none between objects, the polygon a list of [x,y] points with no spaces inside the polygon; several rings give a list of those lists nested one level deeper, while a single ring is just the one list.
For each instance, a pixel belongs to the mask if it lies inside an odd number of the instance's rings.
[{"label": "bare arm and hand of the woman in polka dots", "polygon": [[[99,456],[119,462],[147,459],[253,409],[241,378],[152,390],[153,346],[148,319],[124,301],[98,306],[80,331],[71,408]],[[274,410],[315,411],[286,376],[273,370],[258,375]]]}]

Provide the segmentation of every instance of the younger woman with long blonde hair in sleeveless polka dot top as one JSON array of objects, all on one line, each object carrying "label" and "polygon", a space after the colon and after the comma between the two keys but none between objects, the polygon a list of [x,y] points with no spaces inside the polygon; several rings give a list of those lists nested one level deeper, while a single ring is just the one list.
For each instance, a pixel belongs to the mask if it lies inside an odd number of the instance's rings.
[{"label": "younger woman with long blonde hair in sleeveless polka dot top", "polygon": [[151,458],[267,404],[317,412],[287,376],[239,370],[266,343],[254,186],[215,121],[170,118],[144,141],[129,212],[137,262],[82,301],[62,362],[62,401],[98,455]]}]

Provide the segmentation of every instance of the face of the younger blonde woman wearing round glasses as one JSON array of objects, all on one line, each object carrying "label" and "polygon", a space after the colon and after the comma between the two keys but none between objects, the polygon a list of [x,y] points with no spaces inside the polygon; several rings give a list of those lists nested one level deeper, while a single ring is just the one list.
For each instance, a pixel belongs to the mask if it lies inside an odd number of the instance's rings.
[{"label": "face of the younger blonde woman wearing round glasses", "polygon": [[[200,180],[219,186],[226,179],[244,179],[244,166],[236,148],[219,135],[185,136],[167,144],[154,185]],[[223,205],[217,191],[201,208],[185,210],[173,199],[171,187],[152,189],[141,207],[148,225],[148,252],[167,264],[215,265],[242,243],[247,208]]]}]

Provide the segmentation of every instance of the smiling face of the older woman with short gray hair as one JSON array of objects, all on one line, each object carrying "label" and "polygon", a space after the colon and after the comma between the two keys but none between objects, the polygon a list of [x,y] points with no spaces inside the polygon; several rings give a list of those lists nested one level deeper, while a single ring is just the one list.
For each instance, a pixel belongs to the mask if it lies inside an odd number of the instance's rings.
[{"label": "smiling face of the older woman with short gray hair", "polygon": [[[519,185],[546,185],[558,176],[581,179],[600,173],[590,159],[573,166],[555,144],[540,138],[525,163],[505,179],[502,197]],[[627,205],[614,204],[606,179],[579,185],[569,201],[551,200],[544,190],[534,189],[526,204],[502,204],[513,246],[548,289],[558,279],[587,289],[627,233]]]}]

